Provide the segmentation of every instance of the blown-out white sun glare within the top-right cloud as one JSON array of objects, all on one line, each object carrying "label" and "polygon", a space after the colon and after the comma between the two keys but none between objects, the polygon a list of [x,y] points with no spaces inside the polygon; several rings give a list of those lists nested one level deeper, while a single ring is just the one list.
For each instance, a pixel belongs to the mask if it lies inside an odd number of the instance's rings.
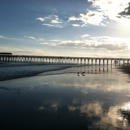
[{"label": "blown-out white sun glare within the top-right cloud", "polygon": [[129,6],[129,0],[89,0],[92,2],[92,7],[97,8],[97,11],[103,12],[104,16],[111,20],[120,20],[119,13],[124,11]]}]

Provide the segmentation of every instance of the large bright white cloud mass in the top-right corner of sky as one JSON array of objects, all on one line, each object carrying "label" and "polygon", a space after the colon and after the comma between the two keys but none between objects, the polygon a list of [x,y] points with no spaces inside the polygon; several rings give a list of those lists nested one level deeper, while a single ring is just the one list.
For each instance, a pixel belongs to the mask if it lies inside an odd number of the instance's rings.
[{"label": "large bright white cloud mass in the top-right corner of sky", "polygon": [[[91,10],[86,14],[71,16],[68,22],[81,21],[82,26],[86,24],[105,26],[106,20],[125,21],[130,19],[129,0],[88,0],[91,2]],[[81,26],[81,27],[82,27]]]}]

